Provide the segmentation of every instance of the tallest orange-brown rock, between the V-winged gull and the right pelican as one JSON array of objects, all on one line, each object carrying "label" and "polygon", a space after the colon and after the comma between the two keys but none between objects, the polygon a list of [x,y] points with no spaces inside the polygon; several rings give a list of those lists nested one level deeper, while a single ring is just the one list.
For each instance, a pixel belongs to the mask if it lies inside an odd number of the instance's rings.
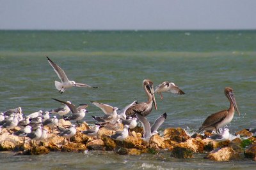
[{"label": "tallest orange-brown rock, between the V-winged gull and the right pelican", "polygon": [[171,127],[164,130],[164,138],[170,138],[172,141],[184,142],[190,137],[180,127],[176,129]]}]

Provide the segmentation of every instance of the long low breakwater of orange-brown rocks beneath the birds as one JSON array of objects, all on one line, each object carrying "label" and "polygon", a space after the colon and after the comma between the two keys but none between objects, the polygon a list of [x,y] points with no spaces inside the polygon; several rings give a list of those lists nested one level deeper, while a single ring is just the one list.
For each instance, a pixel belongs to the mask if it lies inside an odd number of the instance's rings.
[{"label": "long low breakwater of orange-brown rocks beneath the birds", "polygon": [[[59,126],[71,125],[69,121],[60,120]],[[45,127],[47,128],[47,127]],[[122,127],[123,128],[123,127]],[[122,131],[122,128],[118,131]],[[235,138],[232,141],[223,142],[212,141],[205,136],[195,134],[189,136],[184,129],[168,128],[164,129],[163,136],[155,134],[150,140],[143,141],[142,127],[133,129],[124,141],[112,139],[110,136],[116,131],[111,131],[102,127],[98,135],[91,137],[83,134],[83,131],[90,129],[85,122],[77,127],[76,135],[70,139],[65,139],[58,135],[58,129],[54,129],[46,139],[41,141],[30,141],[26,138],[14,136],[12,132],[2,129],[0,134],[0,150],[10,150],[17,152],[17,155],[38,155],[49,152],[84,152],[85,150],[114,151],[120,155],[140,155],[142,153],[170,152],[171,157],[186,159],[193,157],[196,153],[205,153],[204,159],[216,161],[229,161],[256,158],[256,138],[246,134],[247,139]],[[13,132],[19,128],[13,129]],[[50,129],[49,129],[50,131]],[[237,132],[237,135],[244,135],[246,130]]]}]

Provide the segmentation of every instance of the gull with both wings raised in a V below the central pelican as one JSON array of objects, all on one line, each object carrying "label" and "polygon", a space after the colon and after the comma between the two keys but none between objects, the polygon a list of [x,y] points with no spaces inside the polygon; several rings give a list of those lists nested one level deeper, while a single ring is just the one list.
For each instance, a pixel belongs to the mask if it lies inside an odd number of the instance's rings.
[{"label": "gull with both wings raised in a V below the central pelican", "polygon": [[136,113],[136,116],[140,120],[142,126],[143,126],[143,141],[150,141],[150,138],[154,136],[154,134],[157,134],[157,129],[163,124],[164,120],[167,117],[166,113],[163,113],[160,117],[156,119],[154,124],[150,127],[150,124],[147,120],[147,118],[140,115],[140,113],[134,111]]}]

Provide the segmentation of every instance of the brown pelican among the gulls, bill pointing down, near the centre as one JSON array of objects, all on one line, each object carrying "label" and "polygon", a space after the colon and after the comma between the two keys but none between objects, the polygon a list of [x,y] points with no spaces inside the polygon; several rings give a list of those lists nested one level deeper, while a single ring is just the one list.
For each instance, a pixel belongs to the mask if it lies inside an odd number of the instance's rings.
[{"label": "brown pelican among the gulls, bill pointing down, near the centre", "polygon": [[143,89],[145,90],[148,96],[148,101],[138,103],[135,106],[132,106],[125,112],[125,115],[127,116],[134,115],[134,110],[136,110],[140,115],[142,115],[143,117],[146,117],[151,112],[153,108],[153,104],[155,106],[155,109],[157,110],[156,99],[154,96],[153,82],[151,80],[143,80],[142,85],[143,85]]}]

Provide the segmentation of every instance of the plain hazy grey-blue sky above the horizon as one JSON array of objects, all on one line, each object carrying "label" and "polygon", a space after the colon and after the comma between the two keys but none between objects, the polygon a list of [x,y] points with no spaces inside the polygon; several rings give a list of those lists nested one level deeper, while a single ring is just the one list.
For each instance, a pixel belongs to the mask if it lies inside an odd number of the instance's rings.
[{"label": "plain hazy grey-blue sky above the horizon", "polygon": [[256,1],[0,0],[0,29],[256,29]]}]

